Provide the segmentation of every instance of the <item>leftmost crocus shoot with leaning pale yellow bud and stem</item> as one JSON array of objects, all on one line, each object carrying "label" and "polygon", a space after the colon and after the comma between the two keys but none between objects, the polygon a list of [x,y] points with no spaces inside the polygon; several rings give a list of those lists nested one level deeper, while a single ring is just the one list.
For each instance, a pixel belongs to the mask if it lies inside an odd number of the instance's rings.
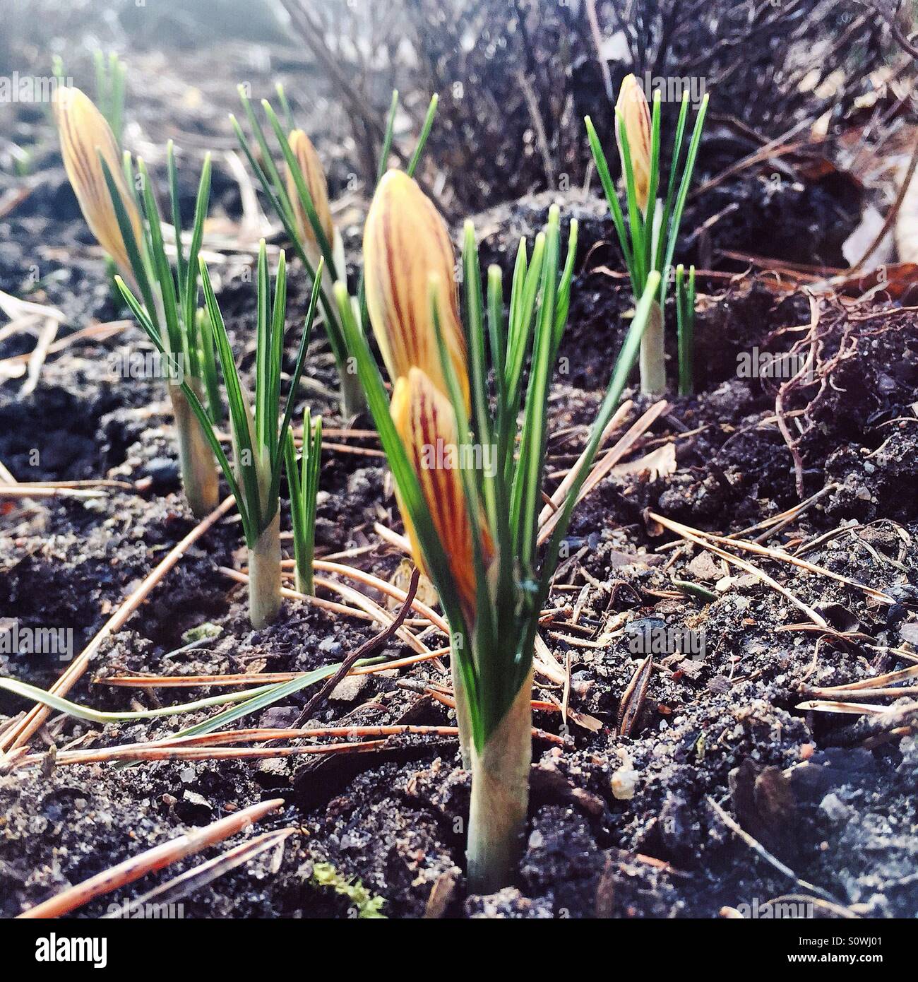
[{"label": "leftmost crocus shoot with leaning pale yellow bud and stem", "polygon": [[[179,214],[175,153],[167,148],[171,217],[175,227],[176,268],[166,254],[159,206],[146,167],[122,156],[111,128],[91,100],[77,88],[59,88],[55,118],[61,153],[83,217],[121,275],[139,293],[149,321],[162,337],[164,373],[179,440],[182,482],[198,518],[217,506],[217,470],[201,426],[189,409],[181,385],[187,379],[198,396],[207,393],[214,418],[220,416],[213,346],[198,327],[197,254],[210,196],[210,156],[204,158],[188,252]],[[135,184],[140,188],[135,197]],[[141,220],[142,214],[146,221]]]}]

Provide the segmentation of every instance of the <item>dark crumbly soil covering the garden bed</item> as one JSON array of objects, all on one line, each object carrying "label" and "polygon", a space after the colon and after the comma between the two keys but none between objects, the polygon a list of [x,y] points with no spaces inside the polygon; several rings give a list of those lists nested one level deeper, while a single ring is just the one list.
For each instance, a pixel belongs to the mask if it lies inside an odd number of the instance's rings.
[{"label": "dark crumbly soil covering the garden bed", "polygon": [[[729,193],[739,207],[728,224],[714,227],[714,246],[761,254],[765,250],[752,240],[773,219],[755,194],[736,194],[736,187]],[[27,207],[0,220],[0,289],[22,295],[35,243],[53,242],[58,258],[42,260],[30,296],[64,310],[69,326],[62,336],[123,316],[60,171],[45,175],[40,188]],[[816,188],[798,207],[801,192],[785,193],[793,199],[783,214],[796,209],[810,237],[801,240],[791,229],[790,239],[801,253],[834,261],[838,225],[830,216],[839,215],[840,199]],[[224,206],[231,212],[232,197],[228,189]],[[506,267],[518,235],[530,235],[544,221],[547,202],[522,199],[478,216],[482,264]],[[582,446],[631,305],[612,272],[620,266],[602,204],[571,197],[563,210],[581,219],[581,247],[561,352],[566,371],[551,400],[551,470],[569,464]],[[695,228],[707,214],[687,217],[685,227]],[[831,235],[815,241],[818,229],[827,227]],[[721,228],[728,230],[723,239]],[[346,238],[355,245],[354,228]],[[799,257],[786,244],[773,246],[785,258]],[[563,747],[535,743],[529,826],[515,887],[488,898],[466,893],[461,827],[469,783],[455,744],[393,737],[378,753],[317,764],[303,763],[306,758],[129,769],[49,763],[43,770],[6,773],[0,776],[0,915],[15,916],[189,827],[281,795],[284,814],[261,825],[297,827],[283,856],[262,857],[194,892],[183,900],[186,916],[352,915],[347,898],[315,885],[312,870],[319,862],[359,879],[385,900],[382,910],[390,917],[423,915],[434,885],[437,912],[457,916],[715,917],[725,905],[800,893],[725,826],[712,802],[837,903],[866,916],[915,916],[918,737],[898,736],[864,749],[865,733],[855,717],[795,707],[804,683],[834,685],[909,664],[891,649],[914,639],[918,595],[918,317],[914,310],[890,314],[891,303],[882,296],[856,306],[840,299],[822,303],[817,378],[789,392],[783,405],[797,441],[795,468],[778,425],[776,383],[737,377],[737,355],[754,346],[789,351],[810,323],[807,298],[775,293],[751,276],[730,281],[702,275],[699,292],[697,394],[673,398],[632,455],[672,444],[675,470],[654,475],[637,467],[611,476],[578,508],[570,529],[550,606],[569,608],[579,597],[579,627],[548,625],[542,634],[562,663],[570,659],[571,709],[595,724],[588,729],[570,723]],[[227,278],[220,300],[240,363],[249,370],[253,289]],[[305,300],[295,269],[288,357],[296,350]],[[327,345],[316,334],[303,401],[322,411],[327,426],[341,425],[334,401],[323,396],[335,378]],[[164,393],[154,382],[113,385],[103,374],[114,346],[143,344],[132,325],[115,339],[81,342],[49,358],[27,398],[19,396],[21,380],[0,387],[0,461],[17,478],[109,476],[140,489],[3,505],[0,618],[23,627],[71,627],[77,651],[194,525],[179,488]],[[13,337],[0,344],[0,357],[25,350],[28,344]],[[671,377],[674,366],[671,359]],[[633,417],[649,404],[630,395]],[[374,447],[372,441],[351,444]],[[896,604],[881,606],[855,587],[750,558],[834,627],[858,631],[853,638],[827,635],[817,643],[817,634],[782,629],[804,617],[756,577],[728,570],[691,545],[657,551],[673,536],[661,534],[648,511],[722,534],[738,532],[793,506],[798,477],[804,495],[834,487],[769,544],[792,548],[835,531],[806,559],[888,590]],[[387,578],[396,573],[399,557],[380,544],[372,527],[381,519],[401,527],[380,459],[327,450],[321,487],[320,550],[372,545],[351,562]],[[284,522],[289,528],[286,501]],[[365,622],[290,601],[277,624],[252,631],[242,589],[218,572],[239,564],[241,545],[233,518],[209,531],[126,629],[102,646],[71,698],[112,710],[179,705],[213,692],[154,694],[107,685],[105,677],[125,670],[302,671],[340,661],[370,636]],[[703,585],[710,597],[684,595],[675,580]],[[568,619],[569,612],[562,622]],[[705,648],[698,659],[671,653],[655,660],[643,710],[630,735],[619,736],[621,696],[637,665],[630,641],[648,619],[703,631]],[[173,654],[184,632],[204,622],[220,627],[219,636]],[[407,649],[394,640],[383,653],[402,657]],[[42,686],[65,667],[54,659],[0,655],[2,674]],[[327,701],[313,723],[447,724],[449,710],[398,684],[440,679],[432,663],[393,677],[361,677],[343,698]],[[562,696],[543,682],[537,678],[535,698]],[[240,725],[291,723],[305,698],[299,693]],[[4,715],[24,708],[22,700],[0,693],[0,725]],[[176,714],[105,728],[59,718],[34,745],[144,740],[203,718]],[[557,713],[539,712],[534,723],[562,732]],[[148,888],[141,881],[78,915],[99,916],[110,902]]]}]

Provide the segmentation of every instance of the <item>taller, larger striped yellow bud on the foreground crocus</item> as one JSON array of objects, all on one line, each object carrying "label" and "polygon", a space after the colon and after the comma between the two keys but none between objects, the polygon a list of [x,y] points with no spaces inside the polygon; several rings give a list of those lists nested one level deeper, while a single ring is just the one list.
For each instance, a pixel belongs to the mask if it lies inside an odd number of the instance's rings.
[{"label": "taller, larger striped yellow bud on the foreground crocus", "polygon": [[468,405],[465,340],[456,298],[456,255],[433,203],[405,173],[389,171],[363,228],[363,278],[373,333],[393,383],[420,368],[448,393],[431,312],[438,284],[440,329]]}]

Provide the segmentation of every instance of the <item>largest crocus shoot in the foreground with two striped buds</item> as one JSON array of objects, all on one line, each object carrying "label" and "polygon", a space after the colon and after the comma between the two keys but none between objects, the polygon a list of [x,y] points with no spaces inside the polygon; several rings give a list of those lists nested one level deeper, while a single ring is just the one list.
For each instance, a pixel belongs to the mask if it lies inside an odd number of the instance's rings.
[{"label": "largest crocus shoot in the foreground with two striped buds", "polygon": [[563,266],[553,207],[531,256],[520,244],[505,315],[498,267],[488,270],[482,296],[474,229],[466,223],[460,319],[446,228],[417,185],[390,171],[367,216],[364,271],[370,320],[393,380],[391,403],[347,289],[335,288],[415,561],[433,580],[451,629],[459,738],[472,774],[468,876],[477,892],[513,879],[528,801],[538,619],[573,505],[659,288],[653,272],[583,464],[540,555],[549,388],[567,321],[575,241],[571,222]]}]

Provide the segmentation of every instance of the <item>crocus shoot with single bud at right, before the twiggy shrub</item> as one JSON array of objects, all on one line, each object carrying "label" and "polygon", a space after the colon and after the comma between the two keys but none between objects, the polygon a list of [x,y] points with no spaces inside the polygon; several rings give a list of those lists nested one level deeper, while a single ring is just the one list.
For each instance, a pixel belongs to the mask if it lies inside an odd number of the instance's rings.
[{"label": "crocus shoot with single bud at right, before the twiggy shrub", "polygon": [[644,296],[650,274],[660,274],[659,296],[651,309],[650,323],[644,333],[640,353],[641,391],[652,395],[666,390],[663,311],[666,307],[667,282],[698,154],[708,96],[703,97],[698,109],[684,163],[681,162],[681,154],[688,119],[688,92],[682,96],[675,126],[673,159],[667,176],[666,198],[662,201],[657,198],[661,178],[660,103],[660,90],[657,89],[651,113],[647,97],[634,76],[628,75],[621,82],[616,103],[616,142],[624,178],[627,232],[602,143],[590,118],[587,116],[585,119],[590,149],[612,212],[635,302]]}]

